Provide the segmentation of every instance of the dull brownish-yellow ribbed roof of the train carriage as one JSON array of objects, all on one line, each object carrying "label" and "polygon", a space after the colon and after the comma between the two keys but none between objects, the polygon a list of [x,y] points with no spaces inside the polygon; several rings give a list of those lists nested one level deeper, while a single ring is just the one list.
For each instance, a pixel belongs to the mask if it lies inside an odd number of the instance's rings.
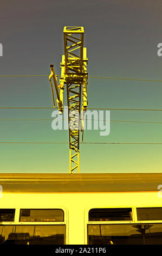
[{"label": "dull brownish-yellow ribbed roof of the train carriage", "polygon": [[[2,173],[3,192],[138,192],[158,191],[162,173]],[[161,185],[162,186],[162,185]]]}]

